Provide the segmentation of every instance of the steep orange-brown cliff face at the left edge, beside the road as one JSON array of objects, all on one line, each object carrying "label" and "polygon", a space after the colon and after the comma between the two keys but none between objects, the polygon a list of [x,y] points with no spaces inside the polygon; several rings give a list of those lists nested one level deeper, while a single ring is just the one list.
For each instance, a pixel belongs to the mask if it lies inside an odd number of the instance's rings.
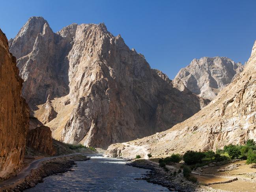
[{"label": "steep orange-brown cliff face at the left edge, beside the road", "polygon": [[21,97],[22,79],[16,59],[0,30],[0,179],[20,168],[24,157],[29,109]]}]

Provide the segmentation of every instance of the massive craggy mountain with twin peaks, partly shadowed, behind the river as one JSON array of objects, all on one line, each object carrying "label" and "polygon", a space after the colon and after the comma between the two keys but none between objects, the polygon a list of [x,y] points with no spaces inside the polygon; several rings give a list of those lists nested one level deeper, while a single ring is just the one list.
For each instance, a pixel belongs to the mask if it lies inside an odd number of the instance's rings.
[{"label": "massive craggy mountain with twin peaks, partly shadowed, behind the river", "polygon": [[31,17],[9,44],[22,95],[65,143],[106,148],[166,130],[209,103],[179,91],[103,23],[54,33],[45,19]]}]

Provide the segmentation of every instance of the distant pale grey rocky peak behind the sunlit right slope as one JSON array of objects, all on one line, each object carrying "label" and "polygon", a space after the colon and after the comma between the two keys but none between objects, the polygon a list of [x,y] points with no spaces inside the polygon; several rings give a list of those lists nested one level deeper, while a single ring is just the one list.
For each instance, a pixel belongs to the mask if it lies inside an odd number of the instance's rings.
[{"label": "distant pale grey rocky peak behind the sunlit right slope", "polygon": [[243,65],[229,58],[203,57],[181,69],[174,82],[181,81],[196,95],[212,100],[241,71]]}]

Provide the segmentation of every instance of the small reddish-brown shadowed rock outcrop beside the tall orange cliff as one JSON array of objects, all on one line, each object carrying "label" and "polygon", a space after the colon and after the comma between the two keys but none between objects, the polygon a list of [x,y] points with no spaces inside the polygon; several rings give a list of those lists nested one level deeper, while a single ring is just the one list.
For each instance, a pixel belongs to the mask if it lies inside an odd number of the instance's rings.
[{"label": "small reddish-brown shadowed rock outcrop beside the tall orange cliff", "polygon": [[54,155],[56,150],[52,144],[52,132],[35,117],[30,117],[30,126],[26,138],[26,147],[35,149],[45,155]]}]

